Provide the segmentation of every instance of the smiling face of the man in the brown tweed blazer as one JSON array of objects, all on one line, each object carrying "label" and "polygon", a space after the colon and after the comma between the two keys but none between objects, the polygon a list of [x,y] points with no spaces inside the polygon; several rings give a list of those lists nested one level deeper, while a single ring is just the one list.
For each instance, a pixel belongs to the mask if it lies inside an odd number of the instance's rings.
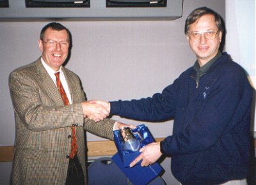
[{"label": "smiling face of the man in the brown tweed blazer", "polygon": [[68,47],[63,47],[60,43],[49,44],[49,40],[68,41],[68,33],[65,29],[61,31],[52,30],[51,27],[45,30],[44,39],[38,40],[39,48],[45,63],[54,71],[58,71],[68,56]]}]

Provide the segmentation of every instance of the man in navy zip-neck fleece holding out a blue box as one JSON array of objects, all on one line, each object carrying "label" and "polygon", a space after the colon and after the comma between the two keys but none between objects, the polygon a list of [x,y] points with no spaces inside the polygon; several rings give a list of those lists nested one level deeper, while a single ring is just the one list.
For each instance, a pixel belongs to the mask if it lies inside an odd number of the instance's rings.
[{"label": "man in navy zip-neck fleece holding out a blue box", "polygon": [[141,149],[131,166],[148,166],[163,154],[182,185],[246,184],[250,159],[252,87],[243,68],[220,52],[222,18],[202,7],[186,19],[193,67],[152,98],[95,101],[110,114],[140,121],[174,119],[173,135]]}]

